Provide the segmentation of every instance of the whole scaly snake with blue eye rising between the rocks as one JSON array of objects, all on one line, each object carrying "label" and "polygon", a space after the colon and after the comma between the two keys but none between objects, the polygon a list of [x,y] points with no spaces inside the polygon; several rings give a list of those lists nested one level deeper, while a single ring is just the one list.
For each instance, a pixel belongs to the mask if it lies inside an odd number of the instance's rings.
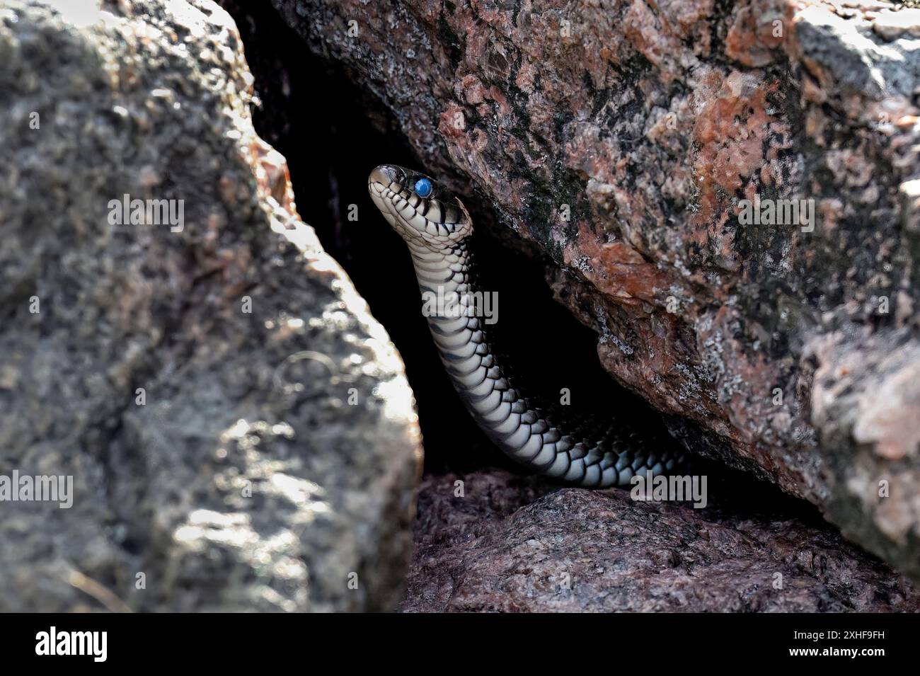
[{"label": "whole scaly snake with blue eye rising between the rocks", "polygon": [[[423,314],[454,389],[503,453],[537,473],[581,487],[624,487],[636,476],[673,472],[682,453],[673,442],[648,433],[654,430],[639,433],[609,413],[546,405],[512,382],[512,366],[493,349],[489,319],[477,304],[484,292],[473,264],[473,222],[451,190],[396,165],[377,166],[367,186],[374,205],[408,246],[422,298],[453,301],[426,303]],[[546,359],[558,358],[546,354]]]}]

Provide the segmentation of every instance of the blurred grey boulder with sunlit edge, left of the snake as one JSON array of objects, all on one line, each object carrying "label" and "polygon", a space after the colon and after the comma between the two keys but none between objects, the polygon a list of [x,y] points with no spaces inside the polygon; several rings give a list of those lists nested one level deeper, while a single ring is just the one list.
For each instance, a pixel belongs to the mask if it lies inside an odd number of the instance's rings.
[{"label": "blurred grey boulder with sunlit edge, left of the snake", "polygon": [[[51,5],[0,4],[0,475],[73,506],[0,502],[0,610],[392,610],[412,395],[253,132],[235,25]],[[113,224],[124,194],[182,227]]]}]

